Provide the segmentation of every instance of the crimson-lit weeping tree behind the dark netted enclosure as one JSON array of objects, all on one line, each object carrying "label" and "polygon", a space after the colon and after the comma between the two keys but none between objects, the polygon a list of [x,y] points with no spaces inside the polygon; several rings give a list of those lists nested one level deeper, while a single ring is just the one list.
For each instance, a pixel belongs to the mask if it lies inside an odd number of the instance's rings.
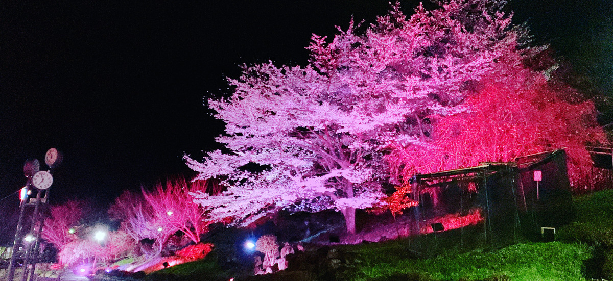
[{"label": "crimson-lit weeping tree behind the dark netted enclosure", "polygon": [[466,112],[431,116],[435,126],[427,146],[397,146],[387,159],[400,178],[565,149],[571,186],[584,188],[593,177],[587,144],[607,144],[592,102],[568,86],[553,84],[547,72],[507,57],[464,103]]}]

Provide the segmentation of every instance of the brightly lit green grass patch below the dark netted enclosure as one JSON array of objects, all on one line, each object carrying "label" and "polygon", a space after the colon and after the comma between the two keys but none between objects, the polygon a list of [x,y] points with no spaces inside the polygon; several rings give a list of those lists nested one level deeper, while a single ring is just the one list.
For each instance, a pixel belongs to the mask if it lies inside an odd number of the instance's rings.
[{"label": "brightly lit green grass patch below the dark netted enclosure", "polygon": [[386,247],[362,247],[364,262],[349,279],[421,275],[425,280],[585,280],[582,268],[591,251],[585,244],[539,242],[416,260],[387,255]]}]

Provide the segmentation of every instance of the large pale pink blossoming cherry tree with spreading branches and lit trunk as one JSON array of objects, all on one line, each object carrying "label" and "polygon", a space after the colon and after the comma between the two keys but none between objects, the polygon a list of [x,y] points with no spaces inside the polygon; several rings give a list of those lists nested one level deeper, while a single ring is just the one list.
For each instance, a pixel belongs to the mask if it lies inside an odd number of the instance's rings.
[{"label": "large pale pink blossoming cherry tree with spreading branches and lit trunk", "polygon": [[305,67],[245,66],[232,96],[209,100],[227,124],[226,152],[186,156],[197,179],[229,188],[196,202],[238,225],[278,208],[336,209],[355,233],[355,210],[390,180],[389,148],[427,145],[427,117],[465,111],[471,86],[520,47],[502,4],[452,0],[411,17],[395,4],[364,32],[351,21],[331,41],[313,36]]}]

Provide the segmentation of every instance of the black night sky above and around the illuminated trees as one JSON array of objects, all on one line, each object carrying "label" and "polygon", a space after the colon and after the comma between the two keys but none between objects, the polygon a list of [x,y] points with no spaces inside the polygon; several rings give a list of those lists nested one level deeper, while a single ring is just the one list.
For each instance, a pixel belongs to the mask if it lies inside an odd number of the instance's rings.
[{"label": "black night sky above and around the illuminated trees", "polygon": [[[56,202],[104,206],[121,190],[189,177],[184,152],[218,148],[213,137],[223,124],[204,102],[229,92],[224,77],[268,59],[304,65],[312,33],[333,36],[352,15],[371,23],[389,7],[387,0],[109,2],[1,4],[0,199],[25,184],[23,162],[43,160],[51,147],[64,154],[51,187]],[[609,81],[607,66],[586,58],[613,46],[610,2],[516,0],[509,9],[537,42],[585,73],[604,67],[604,78],[593,77]],[[609,45],[594,42],[601,34]],[[603,50],[593,50],[599,44]],[[17,195],[0,204],[17,204]]]}]

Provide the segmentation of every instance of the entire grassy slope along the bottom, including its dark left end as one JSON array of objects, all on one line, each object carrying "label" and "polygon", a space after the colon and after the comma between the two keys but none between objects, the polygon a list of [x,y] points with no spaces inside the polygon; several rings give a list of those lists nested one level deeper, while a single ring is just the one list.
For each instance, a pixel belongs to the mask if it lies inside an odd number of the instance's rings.
[{"label": "entire grassy slope along the bottom, including its dark left end", "polygon": [[222,269],[223,253],[175,266],[149,280],[590,280],[613,277],[613,190],[574,199],[576,220],[556,242],[419,257],[407,241],[310,249],[276,274],[248,276],[250,264]]}]

